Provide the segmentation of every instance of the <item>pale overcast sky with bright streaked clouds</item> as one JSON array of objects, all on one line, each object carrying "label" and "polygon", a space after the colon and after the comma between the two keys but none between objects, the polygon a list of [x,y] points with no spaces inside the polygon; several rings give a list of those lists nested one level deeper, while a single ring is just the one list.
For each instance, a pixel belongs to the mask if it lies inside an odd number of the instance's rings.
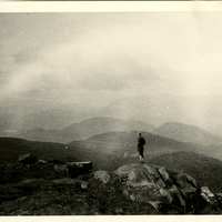
[{"label": "pale overcast sky with bright streaked clouds", "polygon": [[0,13],[1,97],[222,94],[222,13]]}]

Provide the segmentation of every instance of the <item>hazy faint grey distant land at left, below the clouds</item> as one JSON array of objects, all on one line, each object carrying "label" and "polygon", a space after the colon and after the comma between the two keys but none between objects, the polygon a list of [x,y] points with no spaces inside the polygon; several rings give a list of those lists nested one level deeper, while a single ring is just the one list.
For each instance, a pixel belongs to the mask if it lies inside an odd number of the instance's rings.
[{"label": "hazy faint grey distant land at left, below the clouds", "polygon": [[100,108],[78,102],[7,98],[0,99],[0,131],[43,128],[61,130],[88,118],[97,117]]}]

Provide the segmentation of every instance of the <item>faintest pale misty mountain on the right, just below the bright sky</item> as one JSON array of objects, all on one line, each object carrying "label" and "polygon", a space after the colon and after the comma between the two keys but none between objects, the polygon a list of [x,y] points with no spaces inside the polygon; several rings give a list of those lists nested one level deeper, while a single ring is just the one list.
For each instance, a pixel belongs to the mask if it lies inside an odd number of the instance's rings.
[{"label": "faintest pale misty mountain on the right, just below the bright sky", "polygon": [[105,113],[119,118],[127,115],[154,125],[184,122],[211,132],[222,124],[221,101],[221,95],[141,94],[113,101]]}]

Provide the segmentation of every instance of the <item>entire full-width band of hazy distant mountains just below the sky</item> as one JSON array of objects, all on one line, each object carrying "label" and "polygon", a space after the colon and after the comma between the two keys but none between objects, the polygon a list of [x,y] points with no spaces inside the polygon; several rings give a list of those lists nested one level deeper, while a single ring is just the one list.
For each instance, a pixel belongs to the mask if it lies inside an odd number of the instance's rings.
[{"label": "entire full-width band of hazy distant mountains just below the sky", "polygon": [[105,107],[26,98],[1,100],[0,131],[43,128],[61,130],[94,117],[130,119],[160,125],[183,122],[221,134],[221,95],[141,94],[119,98]]}]

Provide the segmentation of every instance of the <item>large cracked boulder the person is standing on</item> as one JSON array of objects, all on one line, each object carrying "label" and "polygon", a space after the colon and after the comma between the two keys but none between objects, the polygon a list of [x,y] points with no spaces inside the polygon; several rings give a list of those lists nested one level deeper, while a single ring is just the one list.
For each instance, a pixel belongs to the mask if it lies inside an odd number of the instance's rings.
[{"label": "large cracked boulder the person is standing on", "polygon": [[[123,193],[132,201],[152,204],[155,209],[176,205],[183,211],[198,211],[208,204],[210,191],[201,189],[196,181],[180,171],[168,171],[163,167],[127,164],[114,171],[123,182]],[[208,193],[208,194],[203,194]],[[210,194],[212,198],[212,194]]]}]

